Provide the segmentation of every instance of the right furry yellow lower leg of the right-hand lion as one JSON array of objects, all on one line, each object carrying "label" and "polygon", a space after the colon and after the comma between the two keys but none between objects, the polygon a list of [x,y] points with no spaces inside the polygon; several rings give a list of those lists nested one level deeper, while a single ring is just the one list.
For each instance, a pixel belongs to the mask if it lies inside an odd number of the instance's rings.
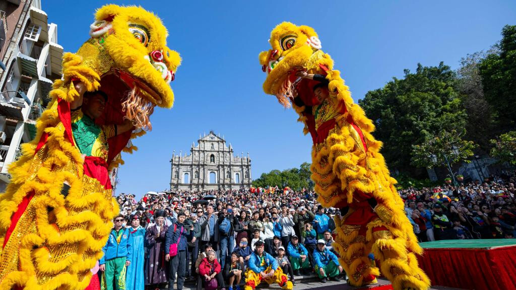
[{"label": "right furry yellow lower leg of the right-hand lion", "polygon": [[414,253],[407,252],[406,237],[395,237],[385,227],[373,228],[372,251],[380,261],[383,275],[395,290],[427,290],[430,280],[417,265]]}]

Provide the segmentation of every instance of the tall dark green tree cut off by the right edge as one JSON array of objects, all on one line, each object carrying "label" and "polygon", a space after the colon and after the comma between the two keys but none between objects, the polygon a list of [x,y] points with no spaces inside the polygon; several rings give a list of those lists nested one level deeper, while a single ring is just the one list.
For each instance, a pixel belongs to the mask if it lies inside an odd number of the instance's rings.
[{"label": "tall dark green tree cut off by the right edge", "polygon": [[516,25],[504,26],[502,40],[495,48],[478,68],[499,133],[516,127]]}]

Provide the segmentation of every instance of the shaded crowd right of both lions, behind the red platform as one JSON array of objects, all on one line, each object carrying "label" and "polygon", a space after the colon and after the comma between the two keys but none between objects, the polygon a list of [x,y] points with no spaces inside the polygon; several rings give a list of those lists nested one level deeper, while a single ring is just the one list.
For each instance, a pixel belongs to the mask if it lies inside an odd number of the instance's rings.
[{"label": "shaded crowd right of both lions, behind the red platform", "polygon": [[516,177],[491,176],[483,183],[409,188],[399,193],[420,241],[513,238]]}]

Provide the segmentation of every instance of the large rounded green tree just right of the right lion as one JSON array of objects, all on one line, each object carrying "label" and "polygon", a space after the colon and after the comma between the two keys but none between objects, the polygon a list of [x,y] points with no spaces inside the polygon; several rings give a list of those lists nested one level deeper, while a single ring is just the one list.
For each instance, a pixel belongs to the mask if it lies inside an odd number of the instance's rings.
[{"label": "large rounded green tree just right of the right lion", "polygon": [[382,154],[391,168],[409,172],[412,144],[421,144],[441,130],[462,131],[467,115],[456,89],[456,72],[443,62],[417,65],[385,87],[369,91],[359,104],[376,125]]}]

